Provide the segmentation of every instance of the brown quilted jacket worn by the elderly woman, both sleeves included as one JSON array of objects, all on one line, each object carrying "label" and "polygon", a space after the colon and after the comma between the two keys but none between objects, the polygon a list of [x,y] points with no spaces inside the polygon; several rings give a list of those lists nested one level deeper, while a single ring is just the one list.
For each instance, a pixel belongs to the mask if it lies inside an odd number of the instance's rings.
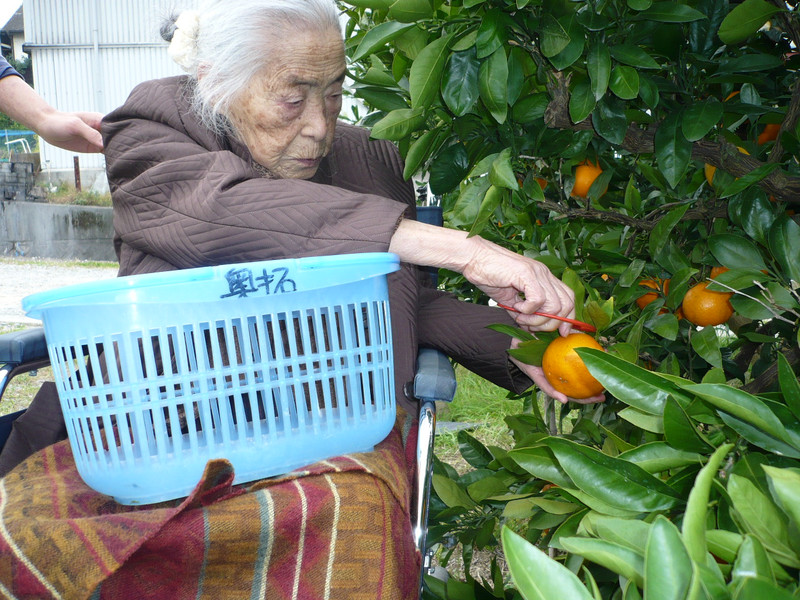
[{"label": "brown quilted jacket worn by the elderly woman, both sleeves included", "polygon": [[[350,252],[383,252],[400,219],[415,217],[414,189],[386,141],[340,123],[312,180],[266,179],[247,148],[196,119],[187,79],[136,87],[103,120],[120,275]],[[505,311],[461,302],[419,283],[404,265],[390,276],[398,401],[418,346],[446,352],[507,389],[530,380],[506,356],[509,338],[486,329]]]}]

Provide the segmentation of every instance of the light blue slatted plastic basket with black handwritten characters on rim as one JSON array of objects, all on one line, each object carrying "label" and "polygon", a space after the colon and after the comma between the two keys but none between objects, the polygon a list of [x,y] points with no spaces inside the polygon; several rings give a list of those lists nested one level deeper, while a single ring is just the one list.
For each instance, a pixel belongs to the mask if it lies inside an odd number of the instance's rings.
[{"label": "light blue slatted plastic basket with black handwritten characters on rim", "polygon": [[395,420],[397,269],[393,254],[352,254],[27,296],[81,477],[148,504],[188,495],[212,458],[243,483],[371,450]]}]

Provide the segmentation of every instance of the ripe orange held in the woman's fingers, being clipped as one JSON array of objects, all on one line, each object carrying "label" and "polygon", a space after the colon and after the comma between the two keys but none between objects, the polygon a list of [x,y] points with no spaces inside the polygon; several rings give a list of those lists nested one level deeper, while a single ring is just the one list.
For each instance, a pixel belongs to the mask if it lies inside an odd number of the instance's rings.
[{"label": "ripe orange held in the woman's fingers, being clipped", "polygon": [[589,373],[575,348],[603,349],[596,339],[586,333],[559,336],[548,344],[542,355],[544,376],[550,385],[570,398],[596,396],[603,391],[603,384]]}]

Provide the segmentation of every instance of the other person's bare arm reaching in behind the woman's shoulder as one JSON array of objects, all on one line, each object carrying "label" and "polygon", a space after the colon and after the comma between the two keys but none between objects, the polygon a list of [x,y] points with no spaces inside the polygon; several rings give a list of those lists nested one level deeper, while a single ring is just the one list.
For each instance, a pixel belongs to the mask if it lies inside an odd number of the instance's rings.
[{"label": "other person's bare arm reaching in behind the woman's shoulder", "polygon": [[59,148],[73,152],[103,150],[103,138],[100,135],[100,120],[103,115],[58,111],[45,102],[16,72],[0,79],[0,112],[32,129],[48,143]]}]

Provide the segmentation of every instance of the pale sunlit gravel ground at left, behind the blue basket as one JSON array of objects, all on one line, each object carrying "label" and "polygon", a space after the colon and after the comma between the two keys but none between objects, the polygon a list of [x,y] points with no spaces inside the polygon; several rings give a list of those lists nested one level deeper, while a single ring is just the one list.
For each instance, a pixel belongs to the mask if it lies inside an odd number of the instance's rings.
[{"label": "pale sunlit gravel ground at left, behind the blue basket", "polygon": [[115,263],[87,263],[53,259],[0,258],[0,332],[11,325],[36,325],[25,316],[22,298],[65,285],[116,277]]}]

